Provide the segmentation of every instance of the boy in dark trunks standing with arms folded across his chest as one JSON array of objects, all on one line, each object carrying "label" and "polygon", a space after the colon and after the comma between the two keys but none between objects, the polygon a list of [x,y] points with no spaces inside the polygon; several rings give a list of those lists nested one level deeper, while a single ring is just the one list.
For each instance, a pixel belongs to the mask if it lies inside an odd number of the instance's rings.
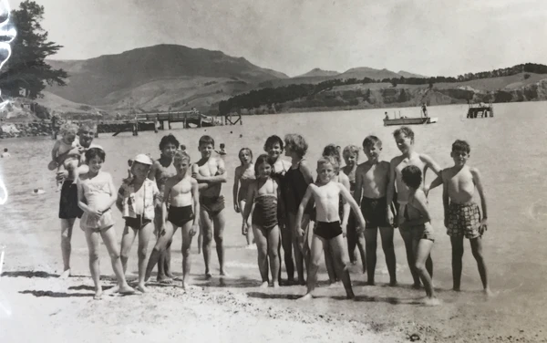
[{"label": "boy in dark trunks standing with arms folded across his chest", "polygon": [[201,160],[191,166],[191,176],[197,180],[200,189],[200,216],[203,236],[203,260],[205,262],[205,277],[211,278],[209,262],[211,260],[211,243],[214,230],[214,242],[219,257],[220,272],[226,275],[224,269],[224,197],[221,195],[222,182],[228,176],[224,168],[224,161],[212,157],[214,140],[210,136],[201,136],[198,150]]}]

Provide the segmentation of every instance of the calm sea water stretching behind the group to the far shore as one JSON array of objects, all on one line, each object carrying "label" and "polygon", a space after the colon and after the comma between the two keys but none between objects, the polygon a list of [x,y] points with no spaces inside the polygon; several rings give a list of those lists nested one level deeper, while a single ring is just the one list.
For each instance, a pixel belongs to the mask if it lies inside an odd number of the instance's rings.
[{"label": "calm sea water stretching behind the group to the far shore", "polygon": [[[467,105],[429,107],[428,115],[437,117],[439,121],[429,125],[413,125],[411,128],[415,132],[416,151],[428,154],[442,167],[452,164],[450,148],[454,140],[467,140],[470,143],[468,163],[480,170],[488,203],[490,224],[483,236],[483,245],[490,286],[497,296],[493,300],[483,300],[480,277],[469,244],[465,245],[462,292],[455,295],[449,291],[452,282],[451,255],[449,236],[443,227],[442,187],[431,191],[428,197],[436,232],[432,250],[435,286],[439,289],[439,297],[451,307],[457,308],[455,313],[465,317],[452,319],[455,320],[455,330],[479,326],[473,325],[473,322],[486,325],[484,323],[488,323],[488,318],[492,316],[498,317],[501,323],[507,323],[510,327],[541,327],[541,323],[547,319],[547,102],[494,104],[493,118],[472,120],[466,118],[467,109]],[[244,288],[256,286],[260,275],[256,266],[256,251],[244,249],[241,214],[233,210],[233,171],[240,164],[240,149],[250,148],[256,159],[259,154],[264,153],[263,144],[268,136],[276,134],[283,138],[287,133],[299,133],[309,145],[305,158],[315,166],[315,161],[325,145],[335,143],[341,147],[348,144],[361,146],[365,137],[373,134],[383,142],[381,158],[389,161],[399,154],[393,139],[393,131],[397,127],[383,125],[384,113],[387,111],[390,117],[394,114],[416,117],[419,116],[419,110],[363,109],[246,116],[243,117],[243,125],[183,129],[173,124],[171,130],[160,130],[158,133],[142,131],[138,136],[132,136],[130,132],[121,133],[117,137],[101,133],[94,142],[106,151],[103,171],[110,172],[117,185],[127,174],[129,158],[138,153],[160,156],[159,143],[165,134],[172,133],[185,144],[192,161],[197,161],[200,156],[198,140],[201,135],[212,136],[217,147],[224,143],[228,152],[225,161],[229,175],[229,180],[222,189],[227,213],[224,235],[227,268],[233,277],[232,283],[227,282],[224,285]],[[7,148],[11,153],[11,158],[0,159],[0,178],[8,192],[7,202],[0,205],[0,244],[5,245],[5,270],[13,270],[10,267],[10,254],[26,255],[26,268],[55,270],[57,274],[62,268],[57,238],[60,233],[57,218],[59,192],[56,192],[55,173],[46,169],[53,143],[51,138],[44,137],[0,140],[0,151]],[[366,161],[363,153],[359,161]],[[432,178],[433,174],[429,172],[427,180],[431,181]],[[36,189],[44,192],[36,194]],[[117,219],[115,228],[121,239],[123,221],[117,210],[114,213]],[[73,235],[73,254],[87,258],[87,246],[78,223]],[[180,256],[180,241],[180,234],[177,234],[173,255]],[[195,261],[192,275],[196,275],[198,279],[203,270],[196,241],[192,243],[191,250]],[[357,265],[352,269],[352,278],[357,296],[366,294],[365,302],[346,303],[344,307],[338,308],[331,303],[336,300],[329,299],[332,294],[329,292],[343,296],[343,289],[330,291],[326,287],[319,287],[318,293],[325,298],[321,303],[322,307],[336,307],[335,311],[345,311],[348,316],[357,316],[362,307],[374,311],[375,307],[385,306],[387,303],[387,306],[398,310],[394,304],[422,296],[421,293],[409,289],[411,277],[402,240],[397,232],[395,244],[397,276],[402,285],[400,289],[385,286],[388,276],[381,244],[378,242],[377,282],[384,286],[364,286],[365,275],[358,272]],[[136,250],[136,247],[133,249]],[[102,272],[109,275],[111,269],[104,246],[103,253],[105,262]],[[136,252],[134,254],[133,271],[136,273]],[[173,268],[178,272],[180,257],[174,257],[173,261],[176,264]],[[217,259],[214,249],[212,261],[215,268]],[[82,265],[84,268],[78,274],[87,275],[87,264]],[[325,280],[324,268],[321,273],[320,279]],[[289,293],[303,294],[304,288],[291,288]],[[287,301],[291,296],[278,296],[274,299]],[[287,306],[292,306],[289,301]],[[429,316],[420,311],[403,310],[409,317]],[[377,319],[381,321],[381,318]],[[386,317],[386,323],[389,320],[391,319]],[[497,322],[500,323],[500,320]]]}]

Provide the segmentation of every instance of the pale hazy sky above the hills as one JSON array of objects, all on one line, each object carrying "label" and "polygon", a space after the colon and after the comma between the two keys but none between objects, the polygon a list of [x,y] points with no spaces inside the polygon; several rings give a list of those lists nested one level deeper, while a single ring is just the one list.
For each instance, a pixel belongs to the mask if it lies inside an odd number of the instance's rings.
[{"label": "pale hazy sky above the hills", "polygon": [[[8,0],[15,8],[20,1]],[[457,76],[547,64],[546,0],[39,0],[42,26],[87,59],[179,44],[289,76],[387,68]]]}]

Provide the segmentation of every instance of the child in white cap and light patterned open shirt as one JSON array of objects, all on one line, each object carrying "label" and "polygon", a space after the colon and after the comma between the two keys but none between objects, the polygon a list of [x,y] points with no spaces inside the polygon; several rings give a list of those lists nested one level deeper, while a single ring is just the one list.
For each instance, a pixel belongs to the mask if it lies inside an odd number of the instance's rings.
[{"label": "child in white cap and light patterned open shirt", "polygon": [[154,231],[155,206],[160,203],[160,191],[156,182],[147,178],[152,160],[144,154],[137,155],[132,161],[129,173],[131,181],[119,188],[116,206],[125,219],[125,228],[121,238],[121,265],[125,274],[128,267],[129,252],[135,236],[139,235],[139,285],[141,292],[146,292],[144,272],[150,234]]}]

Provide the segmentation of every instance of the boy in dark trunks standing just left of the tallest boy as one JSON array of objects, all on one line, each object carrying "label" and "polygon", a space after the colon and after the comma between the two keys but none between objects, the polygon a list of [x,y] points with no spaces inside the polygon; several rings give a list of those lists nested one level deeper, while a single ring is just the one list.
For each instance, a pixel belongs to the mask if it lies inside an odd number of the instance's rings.
[{"label": "boy in dark trunks standing just left of the tallest boy", "polygon": [[[395,248],[393,245],[393,226],[388,222],[387,185],[389,184],[389,163],[379,161],[382,141],[376,136],[367,136],[363,140],[363,150],[368,161],[359,164],[356,169],[356,202],[361,203],[361,211],[366,220],[366,268],[367,284],[375,285],[377,262],[377,231],[382,239],[382,248],[386,256],[389,286],[397,285]],[[361,199],[361,195],[363,198]],[[392,214],[393,215],[393,214]]]}]

